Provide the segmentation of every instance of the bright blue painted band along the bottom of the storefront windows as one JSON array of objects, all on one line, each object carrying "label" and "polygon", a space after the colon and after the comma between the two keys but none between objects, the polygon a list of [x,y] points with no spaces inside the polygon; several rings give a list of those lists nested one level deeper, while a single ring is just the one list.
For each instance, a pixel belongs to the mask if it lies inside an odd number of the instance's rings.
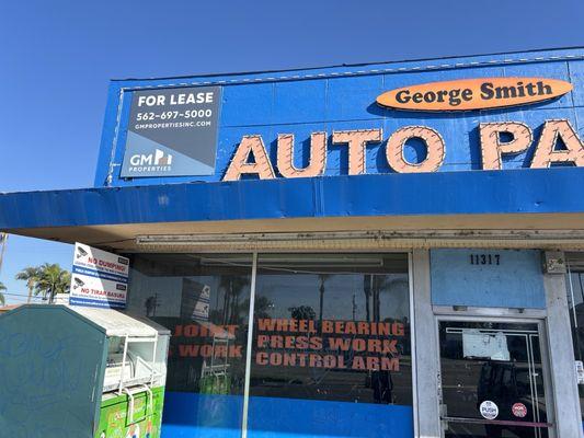
[{"label": "bright blue painted band along the bottom of the storefront windows", "polygon": [[[162,438],[238,438],[243,396],[167,392]],[[196,415],[197,412],[207,415]],[[208,416],[214,412],[213,417]],[[202,419],[202,417],[204,419]],[[298,418],[302,418],[298,422]],[[324,419],[324,420],[323,420]],[[413,437],[412,406],[251,396],[253,438]]]}]

